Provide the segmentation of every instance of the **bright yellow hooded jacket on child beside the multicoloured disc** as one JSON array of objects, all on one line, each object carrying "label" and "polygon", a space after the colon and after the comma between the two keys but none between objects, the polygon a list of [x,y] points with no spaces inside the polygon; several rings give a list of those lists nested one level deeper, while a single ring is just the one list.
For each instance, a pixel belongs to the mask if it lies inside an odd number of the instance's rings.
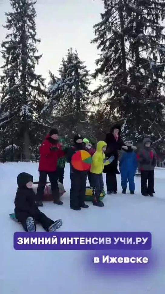
[{"label": "bright yellow hooded jacket on child beside the multicoloured disc", "polygon": [[107,160],[104,163],[105,154],[102,152],[102,148],[107,146],[104,141],[99,141],[97,143],[97,149],[94,155],[92,156],[92,163],[91,163],[91,172],[93,174],[101,174],[104,169],[104,165],[108,165],[109,161]]}]

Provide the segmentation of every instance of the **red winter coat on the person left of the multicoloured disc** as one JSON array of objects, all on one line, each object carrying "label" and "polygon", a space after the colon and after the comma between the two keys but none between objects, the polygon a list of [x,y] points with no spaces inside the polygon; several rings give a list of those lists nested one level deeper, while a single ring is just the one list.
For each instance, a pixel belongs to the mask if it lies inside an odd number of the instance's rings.
[{"label": "red winter coat on the person left of the multicoloured disc", "polygon": [[[48,138],[50,138],[49,135],[46,136],[39,148],[39,172],[54,172],[57,169],[58,158],[65,155],[64,151],[62,151],[62,145],[60,143],[52,144]],[[57,147],[58,150],[50,150],[50,147]]]}]

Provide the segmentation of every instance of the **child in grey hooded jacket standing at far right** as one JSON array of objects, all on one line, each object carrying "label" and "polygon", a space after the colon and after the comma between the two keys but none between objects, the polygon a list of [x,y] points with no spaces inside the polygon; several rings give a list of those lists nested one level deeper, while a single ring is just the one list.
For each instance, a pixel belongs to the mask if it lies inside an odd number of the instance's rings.
[{"label": "child in grey hooded jacket standing at far right", "polygon": [[[151,147],[151,140],[144,138],[143,148],[137,154],[141,173],[141,194],[153,197],[154,191],[154,169],[157,163],[157,155]],[[148,181],[148,185],[147,185]]]}]

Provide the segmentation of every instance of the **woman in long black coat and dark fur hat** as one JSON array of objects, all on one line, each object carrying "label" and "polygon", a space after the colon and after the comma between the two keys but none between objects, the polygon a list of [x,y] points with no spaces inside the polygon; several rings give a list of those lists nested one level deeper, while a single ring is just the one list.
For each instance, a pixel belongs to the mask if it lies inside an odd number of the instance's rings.
[{"label": "woman in long black coat and dark fur hat", "polygon": [[124,146],[124,142],[120,137],[121,127],[115,124],[110,133],[106,135],[105,142],[107,143],[107,149],[105,155],[109,158],[114,155],[114,161],[110,165],[104,167],[103,172],[106,173],[106,184],[107,184],[107,194],[117,194],[117,179],[116,174],[120,174],[117,169],[118,162],[118,150],[121,150]]}]

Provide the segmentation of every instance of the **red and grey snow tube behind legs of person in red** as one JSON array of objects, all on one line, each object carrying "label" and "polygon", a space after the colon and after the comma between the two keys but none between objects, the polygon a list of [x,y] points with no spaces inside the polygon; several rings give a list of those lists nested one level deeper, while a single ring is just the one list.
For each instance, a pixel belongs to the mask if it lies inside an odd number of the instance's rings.
[{"label": "red and grey snow tube behind legs of person in red", "polygon": [[[32,188],[36,194],[37,188],[38,188],[38,182],[33,182]],[[60,197],[61,197],[65,193],[64,186],[58,182],[58,188],[59,188],[59,193],[60,193]],[[46,183],[42,200],[43,201],[53,201],[53,197],[52,197],[52,193],[51,193],[51,184],[49,182]]]}]

